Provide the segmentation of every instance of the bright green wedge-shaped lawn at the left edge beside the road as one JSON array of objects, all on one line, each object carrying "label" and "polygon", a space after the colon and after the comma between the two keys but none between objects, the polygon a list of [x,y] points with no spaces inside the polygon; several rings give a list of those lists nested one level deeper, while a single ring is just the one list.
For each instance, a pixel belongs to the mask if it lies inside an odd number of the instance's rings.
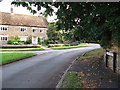
[{"label": "bright green wedge-shaped lawn at the left edge beside the road", "polygon": [[15,52],[15,53],[0,53],[1,61],[0,64],[7,64],[11,63],[20,59],[24,59],[27,57],[34,56],[35,54],[33,53],[20,53],[20,52]]}]

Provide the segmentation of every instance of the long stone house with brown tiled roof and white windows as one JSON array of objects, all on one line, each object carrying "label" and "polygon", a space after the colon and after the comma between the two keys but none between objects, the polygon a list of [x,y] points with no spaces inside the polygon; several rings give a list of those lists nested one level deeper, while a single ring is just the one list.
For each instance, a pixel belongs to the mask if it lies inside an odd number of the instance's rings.
[{"label": "long stone house with brown tiled roof and white windows", "polygon": [[21,41],[32,38],[32,44],[47,39],[47,21],[40,16],[0,12],[0,44],[6,44],[13,37]]}]

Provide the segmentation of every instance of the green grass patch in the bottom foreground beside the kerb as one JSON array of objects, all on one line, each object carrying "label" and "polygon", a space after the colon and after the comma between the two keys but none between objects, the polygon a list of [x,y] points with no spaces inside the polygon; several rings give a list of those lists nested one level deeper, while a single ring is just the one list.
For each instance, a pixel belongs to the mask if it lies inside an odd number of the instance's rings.
[{"label": "green grass patch in the bottom foreground beside the kerb", "polygon": [[67,72],[61,88],[83,88],[77,72]]}]

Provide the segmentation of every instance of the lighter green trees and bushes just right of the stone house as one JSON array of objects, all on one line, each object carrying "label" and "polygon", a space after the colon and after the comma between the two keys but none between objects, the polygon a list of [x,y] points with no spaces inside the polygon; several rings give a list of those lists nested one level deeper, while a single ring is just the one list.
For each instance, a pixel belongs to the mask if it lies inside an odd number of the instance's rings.
[{"label": "lighter green trees and bushes just right of the stone house", "polygon": [[49,23],[49,30],[47,32],[48,38],[50,40],[49,44],[55,43],[70,43],[73,41],[79,41],[80,36],[77,34],[77,30],[72,29],[70,31],[58,30],[58,25],[55,22]]}]

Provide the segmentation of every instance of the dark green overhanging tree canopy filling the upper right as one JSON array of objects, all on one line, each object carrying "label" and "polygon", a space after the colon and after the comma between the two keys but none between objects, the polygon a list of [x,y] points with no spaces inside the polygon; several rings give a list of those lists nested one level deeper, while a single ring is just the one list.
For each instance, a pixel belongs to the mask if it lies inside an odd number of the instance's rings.
[{"label": "dark green overhanging tree canopy filling the upper right", "polygon": [[52,15],[53,7],[58,10],[57,28],[70,31],[80,39],[99,42],[103,47],[120,47],[120,3],[119,2],[12,2],[27,7],[31,13],[46,8],[45,16]]}]

